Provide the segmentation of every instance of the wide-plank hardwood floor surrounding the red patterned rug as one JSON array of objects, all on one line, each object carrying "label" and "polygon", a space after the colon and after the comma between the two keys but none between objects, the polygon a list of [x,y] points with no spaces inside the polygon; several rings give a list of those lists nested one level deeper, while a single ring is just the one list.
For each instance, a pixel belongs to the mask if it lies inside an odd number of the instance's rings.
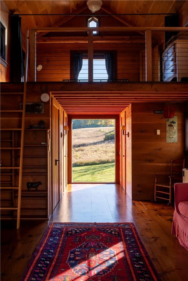
[{"label": "wide-plank hardwood floor surrounding the red patterned rug", "polygon": [[[162,280],[187,281],[188,251],[171,234],[173,212],[166,202],[131,201],[116,184],[70,184],[49,221],[133,222]],[[1,222],[1,281],[20,280],[48,223]]]}]

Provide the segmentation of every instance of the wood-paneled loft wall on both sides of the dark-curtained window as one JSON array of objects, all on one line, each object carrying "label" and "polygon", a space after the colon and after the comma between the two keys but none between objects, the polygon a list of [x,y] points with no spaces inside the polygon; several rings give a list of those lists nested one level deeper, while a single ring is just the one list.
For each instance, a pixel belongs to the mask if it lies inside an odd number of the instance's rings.
[{"label": "wood-paneled loft wall on both sides of the dark-curtained window", "polygon": [[[140,81],[140,54],[137,44],[132,48],[130,44],[94,44],[94,52],[117,51],[117,79],[129,79],[132,82]],[[141,48],[144,48],[141,44]],[[43,66],[37,71],[37,81],[61,82],[63,79],[71,79],[70,51],[79,52],[88,50],[86,43],[66,44],[49,43],[37,44],[37,65]]]}]

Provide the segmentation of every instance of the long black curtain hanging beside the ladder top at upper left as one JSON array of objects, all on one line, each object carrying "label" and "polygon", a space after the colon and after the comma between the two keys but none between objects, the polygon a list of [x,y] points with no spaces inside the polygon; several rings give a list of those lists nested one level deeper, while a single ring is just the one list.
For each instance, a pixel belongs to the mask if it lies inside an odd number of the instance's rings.
[{"label": "long black curtain hanging beside the ladder top at upper left", "polygon": [[24,61],[22,53],[21,17],[11,17],[11,82],[24,82]]}]

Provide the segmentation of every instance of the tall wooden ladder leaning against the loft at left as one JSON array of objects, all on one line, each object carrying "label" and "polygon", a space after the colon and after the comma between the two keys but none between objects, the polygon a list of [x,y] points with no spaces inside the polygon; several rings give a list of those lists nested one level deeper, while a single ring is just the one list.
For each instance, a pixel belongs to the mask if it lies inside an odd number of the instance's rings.
[{"label": "tall wooden ladder leaning against the loft at left", "polygon": [[24,148],[28,33],[24,83],[1,84],[1,219],[16,219],[20,226]]}]

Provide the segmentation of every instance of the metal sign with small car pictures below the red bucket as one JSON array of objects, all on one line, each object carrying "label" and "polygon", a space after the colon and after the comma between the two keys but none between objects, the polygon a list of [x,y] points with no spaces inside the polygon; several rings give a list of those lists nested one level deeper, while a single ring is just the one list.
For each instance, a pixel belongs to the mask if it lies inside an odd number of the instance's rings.
[{"label": "metal sign with small car pictures below the red bucket", "polygon": [[177,143],[177,116],[166,119],[167,143]]}]

